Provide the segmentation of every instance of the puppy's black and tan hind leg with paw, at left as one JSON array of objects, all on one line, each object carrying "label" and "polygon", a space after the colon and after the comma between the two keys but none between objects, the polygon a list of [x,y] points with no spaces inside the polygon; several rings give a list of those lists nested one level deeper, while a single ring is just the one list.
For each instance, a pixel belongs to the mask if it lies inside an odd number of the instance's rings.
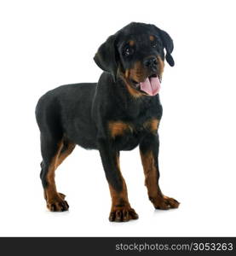
[{"label": "puppy's black and tan hind leg with paw, at left", "polygon": [[58,193],[55,185],[55,170],[66,157],[72,153],[75,144],[69,143],[63,138],[52,138],[49,134],[41,133],[41,152],[43,162],[40,174],[44,198],[47,201],[47,207],[52,212],[63,212],[68,210],[69,206],[64,201],[65,196]]}]

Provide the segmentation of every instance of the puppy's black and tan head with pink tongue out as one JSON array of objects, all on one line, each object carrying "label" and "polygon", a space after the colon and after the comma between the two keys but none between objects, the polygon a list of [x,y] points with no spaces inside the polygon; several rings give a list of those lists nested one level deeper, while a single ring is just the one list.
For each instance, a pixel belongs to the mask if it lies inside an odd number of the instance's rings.
[{"label": "puppy's black and tan head with pink tongue out", "polygon": [[[165,53],[164,53],[165,49]],[[132,22],[107,38],[95,54],[95,63],[124,82],[133,96],[158,93],[164,71],[164,58],[175,65],[174,44],[167,32],[157,26]]]}]

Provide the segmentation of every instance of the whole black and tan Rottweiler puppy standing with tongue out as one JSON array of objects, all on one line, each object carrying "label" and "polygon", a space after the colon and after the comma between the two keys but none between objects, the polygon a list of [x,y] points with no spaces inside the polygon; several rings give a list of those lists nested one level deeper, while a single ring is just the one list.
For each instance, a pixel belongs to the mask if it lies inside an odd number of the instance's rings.
[{"label": "whole black and tan Rottweiler puppy standing with tongue out", "polygon": [[[165,49],[165,54],[164,54]],[[41,132],[41,179],[47,207],[66,211],[57,192],[55,169],[75,145],[98,149],[112,196],[110,221],[138,218],[130,207],[119,152],[140,147],[148,196],[157,209],[179,202],[158,186],[158,124],[162,106],[158,91],[164,58],[174,66],[173,41],[167,32],[144,23],[130,23],[107,38],[95,55],[104,72],[98,83],[68,84],[50,90],[37,103]]]}]

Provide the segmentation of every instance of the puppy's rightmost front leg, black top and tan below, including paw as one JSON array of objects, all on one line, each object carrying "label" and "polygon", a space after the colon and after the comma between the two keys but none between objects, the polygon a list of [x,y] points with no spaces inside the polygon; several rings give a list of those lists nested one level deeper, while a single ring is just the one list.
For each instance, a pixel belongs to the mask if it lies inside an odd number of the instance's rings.
[{"label": "puppy's rightmost front leg, black top and tan below, including paw", "polygon": [[180,203],[173,198],[163,195],[158,185],[158,150],[158,133],[150,133],[142,139],[140,143],[140,154],[148,197],[156,209],[167,210],[177,208]]}]

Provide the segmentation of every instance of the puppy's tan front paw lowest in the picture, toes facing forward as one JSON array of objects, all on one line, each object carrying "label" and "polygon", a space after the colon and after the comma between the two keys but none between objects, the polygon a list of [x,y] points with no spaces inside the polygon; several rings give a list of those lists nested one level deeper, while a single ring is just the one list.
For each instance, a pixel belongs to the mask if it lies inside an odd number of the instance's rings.
[{"label": "puppy's tan front paw lowest in the picture, toes facing forward", "polygon": [[139,218],[138,214],[130,207],[118,207],[116,209],[112,209],[109,216],[109,220],[112,222],[126,222],[130,219],[137,218]]}]

